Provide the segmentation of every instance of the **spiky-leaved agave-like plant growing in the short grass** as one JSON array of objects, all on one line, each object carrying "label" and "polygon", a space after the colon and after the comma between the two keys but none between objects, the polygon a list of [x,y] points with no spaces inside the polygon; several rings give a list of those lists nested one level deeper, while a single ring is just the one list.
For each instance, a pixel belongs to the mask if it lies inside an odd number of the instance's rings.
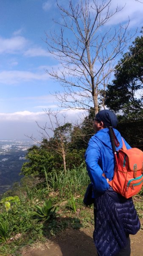
[{"label": "spiky-leaved agave-like plant growing in the short grass", "polygon": [[[48,200],[48,202],[44,202],[43,206],[35,205],[37,211],[33,212],[32,215],[35,218],[39,218],[39,220],[48,220],[49,218],[54,218],[56,215],[56,212],[58,211],[58,207],[52,206],[51,199]],[[54,208],[54,209],[53,209]]]}]

